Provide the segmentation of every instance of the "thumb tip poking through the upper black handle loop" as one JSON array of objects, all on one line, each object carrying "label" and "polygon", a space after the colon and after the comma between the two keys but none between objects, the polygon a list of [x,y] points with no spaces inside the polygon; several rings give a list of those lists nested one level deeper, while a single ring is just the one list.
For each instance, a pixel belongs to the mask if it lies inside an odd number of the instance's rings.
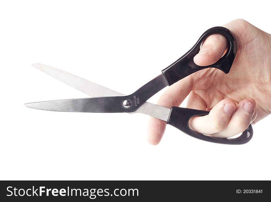
[{"label": "thumb tip poking through the upper black handle loop", "polygon": [[212,65],[223,56],[227,48],[227,40],[221,34],[208,36],[201,45],[200,52],[194,57],[199,66]]}]

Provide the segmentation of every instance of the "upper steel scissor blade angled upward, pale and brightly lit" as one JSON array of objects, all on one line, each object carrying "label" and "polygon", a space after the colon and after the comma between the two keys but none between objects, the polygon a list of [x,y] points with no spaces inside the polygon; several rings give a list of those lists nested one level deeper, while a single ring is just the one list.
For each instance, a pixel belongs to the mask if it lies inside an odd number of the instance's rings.
[{"label": "upper steel scissor blade angled upward, pale and brightly lit", "polygon": [[108,89],[102,85],[93,83],[74,74],[65,72],[63,70],[50,67],[48,65],[42,65],[34,63],[32,66],[41,70],[44,73],[56,78],[59,81],[83,92],[91,97],[104,97],[104,96],[123,96],[124,94],[117,91]]}]

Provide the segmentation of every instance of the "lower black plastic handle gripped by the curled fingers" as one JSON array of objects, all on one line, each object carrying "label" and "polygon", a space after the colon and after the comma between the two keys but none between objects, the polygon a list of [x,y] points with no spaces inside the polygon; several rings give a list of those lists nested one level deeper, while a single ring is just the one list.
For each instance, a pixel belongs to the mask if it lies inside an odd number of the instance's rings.
[{"label": "lower black plastic handle gripped by the curled fingers", "polygon": [[192,137],[208,142],[227,145],[242,145],[251,140],[253,136],[253,129],[251,125],[249,125],[249,127],[241,134],[241,136],[232,139],[209,137],[196,131],[193,131],[192,129],[189,128],[188,122],[192,117],[201,117],[207,115],[208,113],[209,113],[208,111],[203,110],[172,107],[167,123]]}]

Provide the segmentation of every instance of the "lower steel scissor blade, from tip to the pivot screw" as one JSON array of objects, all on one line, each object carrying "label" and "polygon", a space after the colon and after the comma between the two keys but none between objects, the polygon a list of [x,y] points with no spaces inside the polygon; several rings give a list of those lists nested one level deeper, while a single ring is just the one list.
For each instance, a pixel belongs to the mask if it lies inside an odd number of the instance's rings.
[{"label": "lower steel scissor blade, from tip to the pivot screw", "polygon": [[119,113],[125,112],[116,97],[91,97],[25,104],[26,107],[57,112]]}]

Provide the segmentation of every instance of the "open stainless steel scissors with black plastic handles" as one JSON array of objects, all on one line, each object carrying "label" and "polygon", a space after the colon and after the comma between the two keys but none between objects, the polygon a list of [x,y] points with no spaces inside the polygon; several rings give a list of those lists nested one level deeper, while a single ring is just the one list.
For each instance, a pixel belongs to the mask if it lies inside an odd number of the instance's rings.
[{"label": "open stainless steel scissors with black plastic handles", "polygon": [[[216,63],[208,66],[198,66],[193,58],[199,52],[200,45],[211,34],[222,34],[227,40],[227,51]],[[124,95],[101,85],[87,81],[71,73],[47,65],[35,63],[34,67],[55,77],[71,87],[91,96],[89,98],[33,102],[25,104],[26,107],[61,112],[89,112],[89,113],[144,113],[149,116],[166,121],[184,133],[200,140],[241,145],[249,142],[253,136],[252,126],[236,138],[210,137],[189,128],[188,122],[192,117],[205,116],[209,112],[197,109],[171,107],[171,109],[146,102],[150,97],[166,86],[195,73],[201,69],[216,68],[224,73],[229,73],[237,54],[237,41],[234,35],[224,27],[212,27],[205,31],[196,44],[182,57],[162,70],[162,74],[152,79],[147,84],[130,95]]]}]

